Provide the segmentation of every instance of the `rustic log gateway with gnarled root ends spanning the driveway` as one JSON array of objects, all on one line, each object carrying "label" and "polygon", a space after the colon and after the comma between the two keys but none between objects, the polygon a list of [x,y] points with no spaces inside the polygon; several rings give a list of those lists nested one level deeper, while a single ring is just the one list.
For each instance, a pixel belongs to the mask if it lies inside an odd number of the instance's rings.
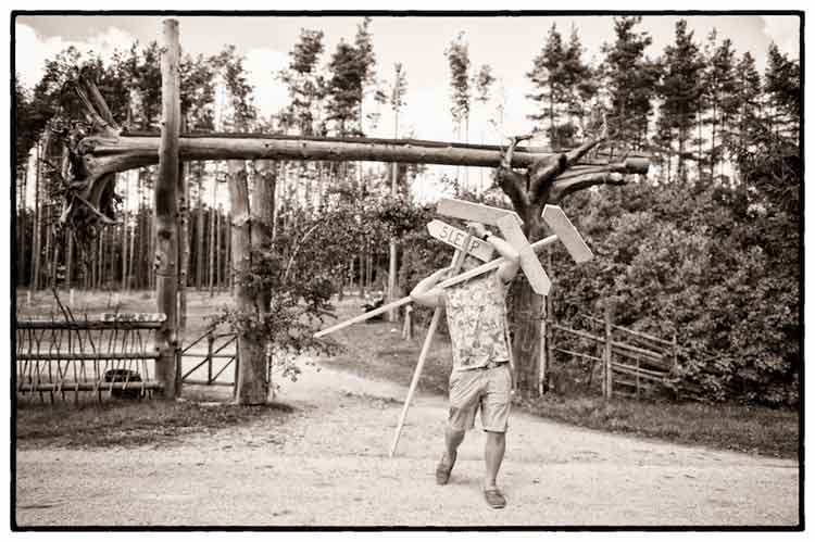
[{"label": "rustic log gateway with gnarled root ends spanning the driveway", "polygon": [[[179,250],[177,218],[184,215],[184,203],[178,197],[178,163],[206,160],[298,160],[298,161],[375,161],[412,164],[447,164],[498,168],[498,185],[507,194],[517,219],[498,225],[505,236],[524,244],[524,269],[534,280],[528,293],[519,297],[517,313],[540,312],[542,302],[538,293],[548,290],[542,279],[540,264],[532,253],[536,248],[552,242],[543,220],[547,205],[557,205],[566,196],[595,185],[622,185],[628,174],[648,173],[648,160],[642,157],[614,157],[598,151],[606,139],[602,134],[577,149],[552,152],[530,147],[517,147],[526,138],[513,138],[509,148],[472,146],[439,141],[369,138],[292,138],[261,134],[189,135],[179,131],[178,24],[174,20],[163,23],[162,50],[162,133],[127,133],[113,118],[95,84],[80,77],[70,85],[84,108],[85,122],[72,123],[62,130],[66,154],[62,167],[64,206],[62,220],[78,230],[78,238],[91,239],[101,227],[113,220],[114,174],[127,169],[159,164],[160,176],[155,186],[156,235],[156,300],[158,312],[167,318],[155,332],[159,350],[159,380],[165,396],[173,398],[180,381],[176,375],[175,353],[178,349],[176,294],[178,289]],[[509,151],[509,152],[507,152]],[[233,209],[233,262],[236,270],[251,264],[251,250],[259,245],[259,217],[250,209],[246,175],[239,163],[230,162],[229,197]],[[522,171],[518,171],[522,169]],[[551,224],[550,224],[551,226]],[[521,237],[524,237],[522,243]],[[528,241],[526,241],[528,239]],[[565,239],[564,239],[565,240]],[[485,265],[490,265],[487,263]],[[239,310],[251,312],[263,306],[263,300],[252,299],[249,292],[237,288]],[[401,304],[404,304],[401,302]],[[398,304],[386,305],[385,311]],[[256,311],[256,310],[255,310]],[[523,323],[522,323],[523,324]],[[539,385],[538,356],[540,333],[526,325],[518,333],[521,348],[537,343],[538,348],[518,352],[523,388],[537,389]],[[268,391],[261,382],[265,374],[264,349],[256,337],[241,333],[239,387],[248,390],[239,394],[240,402],[263,402]],[[523,356],[521,355],[523,354]],[[529,363],[526,363],[526,358]],[[525,370],[525,366],[530,370]],[[261,386],[255,386],[260,382]]]}]

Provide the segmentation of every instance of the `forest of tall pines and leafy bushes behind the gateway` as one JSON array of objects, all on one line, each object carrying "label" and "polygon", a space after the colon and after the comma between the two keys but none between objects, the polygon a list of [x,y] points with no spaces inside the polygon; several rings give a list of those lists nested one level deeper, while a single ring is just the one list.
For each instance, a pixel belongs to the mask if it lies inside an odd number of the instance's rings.
[{"label": "forest of tall pines and leafy bushes behind the gateway", "polygon": [[[800,63],[770,45],[761,73],[750,52],[737,51],[716,30],[695,36],[684,20],[670,45],[649,55],[652,37],[641,17],[609,22],[602,54],[592,62],[577,29],[564,33],[553,24],[541,35],[539,54],[518,63],[535,89],[524,104],[527,118],[549,149],[578,147],[603,124],[604,155],[651,161],[648,175],[576,191],[561,203],[595,257],[575,266],[562,248],[544,256],[554,282],[550,317],[568,325],[611,310],[619,325],[676,333],[679,377],[704,398],[797,405],[803,332]],[[383,114],[400,126],[410,74],[399,63],[378,65],[375,31],[375,20],[362,18],[355,35],[326,51],[321,30],[302,29],[288,66],[269,74],[287,89],[288,104],[268,117],[253,104],[234,46],[211,56],[185,55],[181,131],[364,137]],[[473,112],[497,102],[492,68],[471,59],[464,34],[451,36],[438,54],[450,75],[449,96],[439,99],[449,100],[457,139],[469,141]],[[75,122],[76,99],[65,84],[80,73],[96,81],[127,134],[158,133],[160,55],[156,42],[134,43],[111,60],[68,48],[47,61],[32,88],[15,80],[17,289],[154,288],[158,168],[117,174],[113,206],[99,210],[106,225],[87,236],[61,220],[68,187],[58,136]],[[366,109],[371,98],[380,106]],[[502,108],[498,101],[490,112],[499,124]],[[272,215],[266,250],[274,257],[252,270],[265,287],[279,285],[297,261],[292,273],[312,287],[300,292],[306,299],[314,291],[365,295],[387,290],[389,279],[404,293],[448,265],[449,254],[425,229],[435,205],[415,197],[426,166],[261,162],[247,162],[247,175],[254,192],[265,188]],[[229,291],[236,275],[227,163],[185,162],[181,168],[181,297],[185,289]],[[441,178],[446,193],[510,205],[493,172],[466,169]]]}]

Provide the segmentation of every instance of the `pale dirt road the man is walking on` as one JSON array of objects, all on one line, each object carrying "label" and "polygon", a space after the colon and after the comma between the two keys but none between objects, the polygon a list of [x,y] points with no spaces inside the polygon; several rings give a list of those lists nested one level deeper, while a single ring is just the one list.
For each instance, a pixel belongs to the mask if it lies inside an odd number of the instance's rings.
[{"label": "pale dirt road the man is walking on", "polygon": [[[511,419],[482,500],[480,431],[435,484],[443,398],[418,396],[397,457],[405,388],[324,367],[288,383],[298,411],[158,446],[17,451],[20,526],[791,526],[798,463]],[[692,424],[692,420],[688,420]]]}]

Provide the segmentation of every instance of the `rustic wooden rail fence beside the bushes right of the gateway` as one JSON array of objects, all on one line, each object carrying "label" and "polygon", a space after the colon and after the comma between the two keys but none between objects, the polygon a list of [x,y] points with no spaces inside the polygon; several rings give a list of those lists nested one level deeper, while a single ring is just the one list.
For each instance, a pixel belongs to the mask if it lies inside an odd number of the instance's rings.
[{"label": "rustic wooden rail fence beside the bushes right of the gateway", "polygon": [[[604,318],[584,315],[581,320],[589,323],[587,329],[547,320],[549,363],[556,354],[590,362],[589,386],[599,365],[600,388],[606,399],[614,394],[639,399],[669,388],[677,364],[676,333],[672,340],[662,339],[617,326],[607,314]],[[575,350],[580,348],[584,351]]]}]

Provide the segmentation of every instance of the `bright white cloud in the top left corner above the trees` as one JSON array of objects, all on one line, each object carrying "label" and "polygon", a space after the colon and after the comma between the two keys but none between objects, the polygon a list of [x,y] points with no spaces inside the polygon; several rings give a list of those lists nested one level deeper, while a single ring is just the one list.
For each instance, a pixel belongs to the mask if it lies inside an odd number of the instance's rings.
[{"label": "bright white cloud in the top left corner above the trees", "polygon": [[29,88],[36,85],[42,76],[46,61],[71,46],[84,53],[93,51],[103,60],[110,60],[116,49],[129,49],[136,41],[131,34],[114,26],[101,29],[83,41],[70,41],[60,36],[43,37],[30,26],[21,23],[16,24],[15,30],[14,70],[20,74],[23,86]]}]

